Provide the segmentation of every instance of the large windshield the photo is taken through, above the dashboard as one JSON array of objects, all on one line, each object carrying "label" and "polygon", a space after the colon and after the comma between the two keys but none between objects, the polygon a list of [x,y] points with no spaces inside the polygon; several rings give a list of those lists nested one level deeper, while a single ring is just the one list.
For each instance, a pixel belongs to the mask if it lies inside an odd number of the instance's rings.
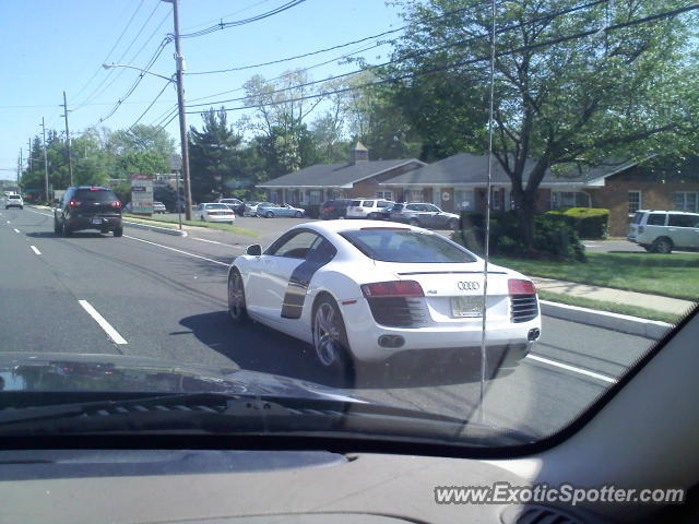
[{"label": "large windshield the photo is taken through, above the dashboard", "polygon": [[192,386],[388,452],[582,428],[699,299],[698,16],[0,2],[0,414]]}]

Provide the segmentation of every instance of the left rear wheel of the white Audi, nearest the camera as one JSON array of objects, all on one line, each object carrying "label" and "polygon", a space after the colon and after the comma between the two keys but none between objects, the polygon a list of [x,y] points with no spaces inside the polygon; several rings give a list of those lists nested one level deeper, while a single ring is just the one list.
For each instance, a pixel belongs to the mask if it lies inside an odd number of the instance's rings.
[{"label": "left rear wheel of the white Audi, nearest the camera", "polygon": [[311,331],[313,354],[321,367],[339,385],[353,385],[355,366],[347,332],[340,308],[331,297],[323,296],[315,305]]}]

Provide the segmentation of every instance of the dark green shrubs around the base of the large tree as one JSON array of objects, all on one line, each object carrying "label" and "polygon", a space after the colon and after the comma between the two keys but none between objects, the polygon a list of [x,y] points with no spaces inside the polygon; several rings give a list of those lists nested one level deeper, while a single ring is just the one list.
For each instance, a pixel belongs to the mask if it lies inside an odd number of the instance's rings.
[{"label": "dark green shrubs around the base of the large tree", "polygon": [[[462,212],[461,231],[452,234],[452,240],[471,251],[483,254],[485,240],[485,214]],[[524,246],[513,211],[490,213],[489,253],[497,255],[554,258],[584,261],[584,247],[573,226],[573,218],[565,215],[541,214],[534,218],[534,245]]]}]

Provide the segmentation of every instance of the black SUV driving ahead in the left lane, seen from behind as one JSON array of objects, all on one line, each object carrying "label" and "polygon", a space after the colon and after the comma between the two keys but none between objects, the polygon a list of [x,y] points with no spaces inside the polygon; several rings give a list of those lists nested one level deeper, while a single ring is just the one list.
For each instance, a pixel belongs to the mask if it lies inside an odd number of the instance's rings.
[{"label": "black SUV driving ahead in the left lane, seen from behind", "polygon": [[79,186],[68,188],[54,210],[54,233],[67,237],[81,229],[123,234],[121,202],[109,188]]}]

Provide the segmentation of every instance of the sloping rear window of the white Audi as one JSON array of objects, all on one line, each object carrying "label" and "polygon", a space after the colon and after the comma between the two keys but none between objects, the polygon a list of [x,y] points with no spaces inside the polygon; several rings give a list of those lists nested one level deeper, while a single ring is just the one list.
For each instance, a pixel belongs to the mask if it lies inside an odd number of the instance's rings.
[{"label": "sloping rear window of the white Audi", "polygon": [[342,231],[365,255],[382,262],[462,263],[476,259],[443,237],[410,229],[358,229]]}]

